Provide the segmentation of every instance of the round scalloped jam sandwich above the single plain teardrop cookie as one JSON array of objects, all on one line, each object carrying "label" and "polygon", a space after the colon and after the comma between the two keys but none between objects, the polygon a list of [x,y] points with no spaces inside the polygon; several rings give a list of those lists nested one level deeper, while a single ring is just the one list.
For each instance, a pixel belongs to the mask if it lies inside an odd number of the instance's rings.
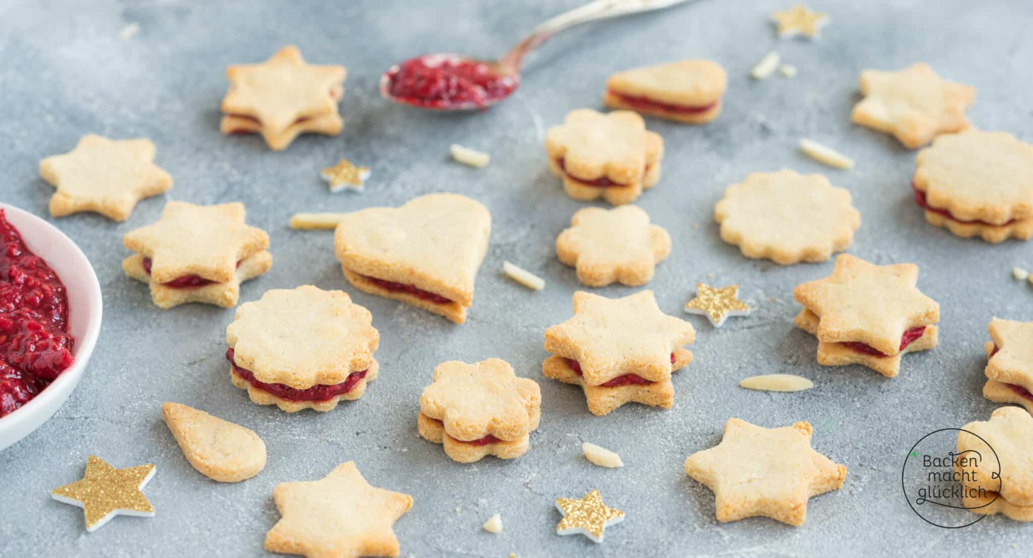
[{"label": "round scalloped jam sandwich above the single plain teardrop cookie", "polygon": [[377,375],[380,334],[343,291],[311,285],[265,291],[226,327],[231,379],[258,404],[330,411],[362,397]]}]

